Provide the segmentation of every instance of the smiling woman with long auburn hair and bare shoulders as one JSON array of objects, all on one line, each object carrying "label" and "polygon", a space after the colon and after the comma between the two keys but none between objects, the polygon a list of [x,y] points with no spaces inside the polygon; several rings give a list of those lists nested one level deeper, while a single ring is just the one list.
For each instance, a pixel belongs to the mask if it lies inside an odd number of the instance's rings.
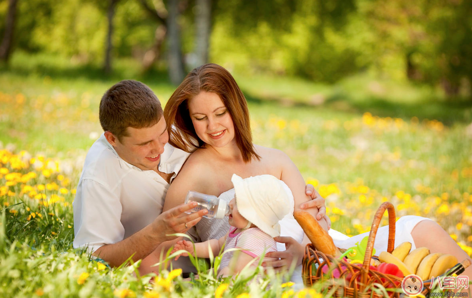
[{"label": "smiling woman with long auburn hair and bare shoulders", "polygon": [[[303,193],[305,183],[302,175],[290,158],[279,150],[252,143],[246,99],[234,78],[223,67],[206,64],[191,71],[167,102],[164,117],[169,143],[187,152],[193,151],[170,185],[164,210],[182,203],[188,190],[215,196],[228,194],[232,189],[233,174],[242,178],[270,174],[281,179],[293,192],[295,210],[309,200]],[[316,208],[309,210],[316,215]],[[468,258],[437,223],[425,219],[418,216],[401,218],[397,222],[395,245],[410,241],[416,247],[428,247],[431,252],[456,255],[460,261]],[[218,223],[221,222],[224,223]],[[326,228],[324,220],[320,220],[320,224]],[[293,232],[293,222],[286,221],[285,225],[285,235],[294,235],[297,242],[301,242],[299,235]],[[281,226],[284,227],[284,223]],[[202,241],[208,240],[205,236],[211,228],[213,225],[209,228],[208,221],[197,224],[197,232]],[[224,232],[227,225],[217,230]],[[377,253],[386,250],[385,231],[382,228],[378,231],[375,243]],[[335,241],[338,247],[348,248],[364,236],[361,234],[349,239],[335,236],[333,239],[338,238]],[[298,245],[297,263],[301,264],[304,245],[290,243]],[[274,256],[273,254],[268,254],[268,257]],[[470,268],[466,274],[471,276],[471,272]]]}]

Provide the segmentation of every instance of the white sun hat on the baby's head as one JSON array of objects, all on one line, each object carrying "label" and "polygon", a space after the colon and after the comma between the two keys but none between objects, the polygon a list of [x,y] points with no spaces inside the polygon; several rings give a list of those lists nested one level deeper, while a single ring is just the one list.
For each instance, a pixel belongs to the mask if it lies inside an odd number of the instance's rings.
[{"label": "white sun hat on the baby's head", "polygon": [[280,236],[279,220],[294,213],[289,187],[272,175],[231,177],[239,213],[272,237]]}]

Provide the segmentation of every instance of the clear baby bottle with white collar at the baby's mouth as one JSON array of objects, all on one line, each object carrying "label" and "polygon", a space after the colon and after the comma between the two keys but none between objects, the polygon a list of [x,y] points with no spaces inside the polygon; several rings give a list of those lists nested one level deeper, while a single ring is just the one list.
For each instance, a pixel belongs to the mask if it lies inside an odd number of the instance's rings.
[{"label": "clear baby bottle with white collar at the baby's mouth", "polygon": [[207,209],[208,213],[203,217],[206,218],[218,218],[221,219],[229,215],[229,206],[228,203],[223,199],[218,199],[216,196],[210,196],[205,194],[200,194],[194,191],[188,191],[187,197],[185,197],[185,203],[190,201],[195,201],[198,205],[186,213],[193,213],[203,209]]}]

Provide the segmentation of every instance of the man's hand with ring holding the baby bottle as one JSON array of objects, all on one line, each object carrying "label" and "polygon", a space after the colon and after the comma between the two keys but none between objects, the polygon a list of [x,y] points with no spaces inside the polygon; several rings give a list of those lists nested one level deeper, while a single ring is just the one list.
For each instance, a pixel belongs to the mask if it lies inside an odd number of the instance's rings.
[{"label": "man's hand with ring holding the baby bottle", "polygon": [[198,212],[187,214],[185,211],[196,207],[197,202],[189,202],[187,204],[180,204],[165,212],[162,212],[153,222],[153,231],[155,235],[162,237],[161,242],[172,240],[175,236],[170,236],[175,233],[185,233],[189,228],[197,224],[203,215],[208,213],[207,209]]}]

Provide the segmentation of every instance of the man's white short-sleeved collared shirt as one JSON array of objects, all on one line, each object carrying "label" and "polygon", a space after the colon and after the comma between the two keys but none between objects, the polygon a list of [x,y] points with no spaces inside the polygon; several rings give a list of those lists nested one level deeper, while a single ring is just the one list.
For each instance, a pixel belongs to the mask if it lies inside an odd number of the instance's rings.
[{"label": "man's white short-sleeved collared shirt", "polygon": [[[165,144],[159,171],[174,179],[189,155]],[[87,153],[73,202],[74,248],[91,253],[143,229],[162,213],[168,188],[155,171],[121,159],[102,134]]]}]

